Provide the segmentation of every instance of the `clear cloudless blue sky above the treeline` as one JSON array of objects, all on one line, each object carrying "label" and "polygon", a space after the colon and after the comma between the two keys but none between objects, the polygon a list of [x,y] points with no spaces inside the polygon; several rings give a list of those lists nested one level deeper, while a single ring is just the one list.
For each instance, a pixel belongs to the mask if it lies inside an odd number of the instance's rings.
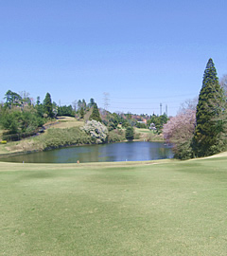
[{"label": "clear cloudless blue sky above the treeline", "polygon": [[0,100],[10,89],[58,104],[176,115],[212,58],[227,73],[226,1],[0,1]]}]

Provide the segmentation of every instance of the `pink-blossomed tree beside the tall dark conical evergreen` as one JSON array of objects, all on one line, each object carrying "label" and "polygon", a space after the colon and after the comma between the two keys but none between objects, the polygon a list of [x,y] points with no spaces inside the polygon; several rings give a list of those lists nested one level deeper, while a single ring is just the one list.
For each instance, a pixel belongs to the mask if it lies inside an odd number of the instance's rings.
[{"label": "pink-blossomed tree beside the tall dark conical evergreen", "polygon": [[191,140],[195,131],[196,110],[184,109],[176,117],[167,121],[163,128],[166,141],[174,144],[175,157],[192,157]]}]

